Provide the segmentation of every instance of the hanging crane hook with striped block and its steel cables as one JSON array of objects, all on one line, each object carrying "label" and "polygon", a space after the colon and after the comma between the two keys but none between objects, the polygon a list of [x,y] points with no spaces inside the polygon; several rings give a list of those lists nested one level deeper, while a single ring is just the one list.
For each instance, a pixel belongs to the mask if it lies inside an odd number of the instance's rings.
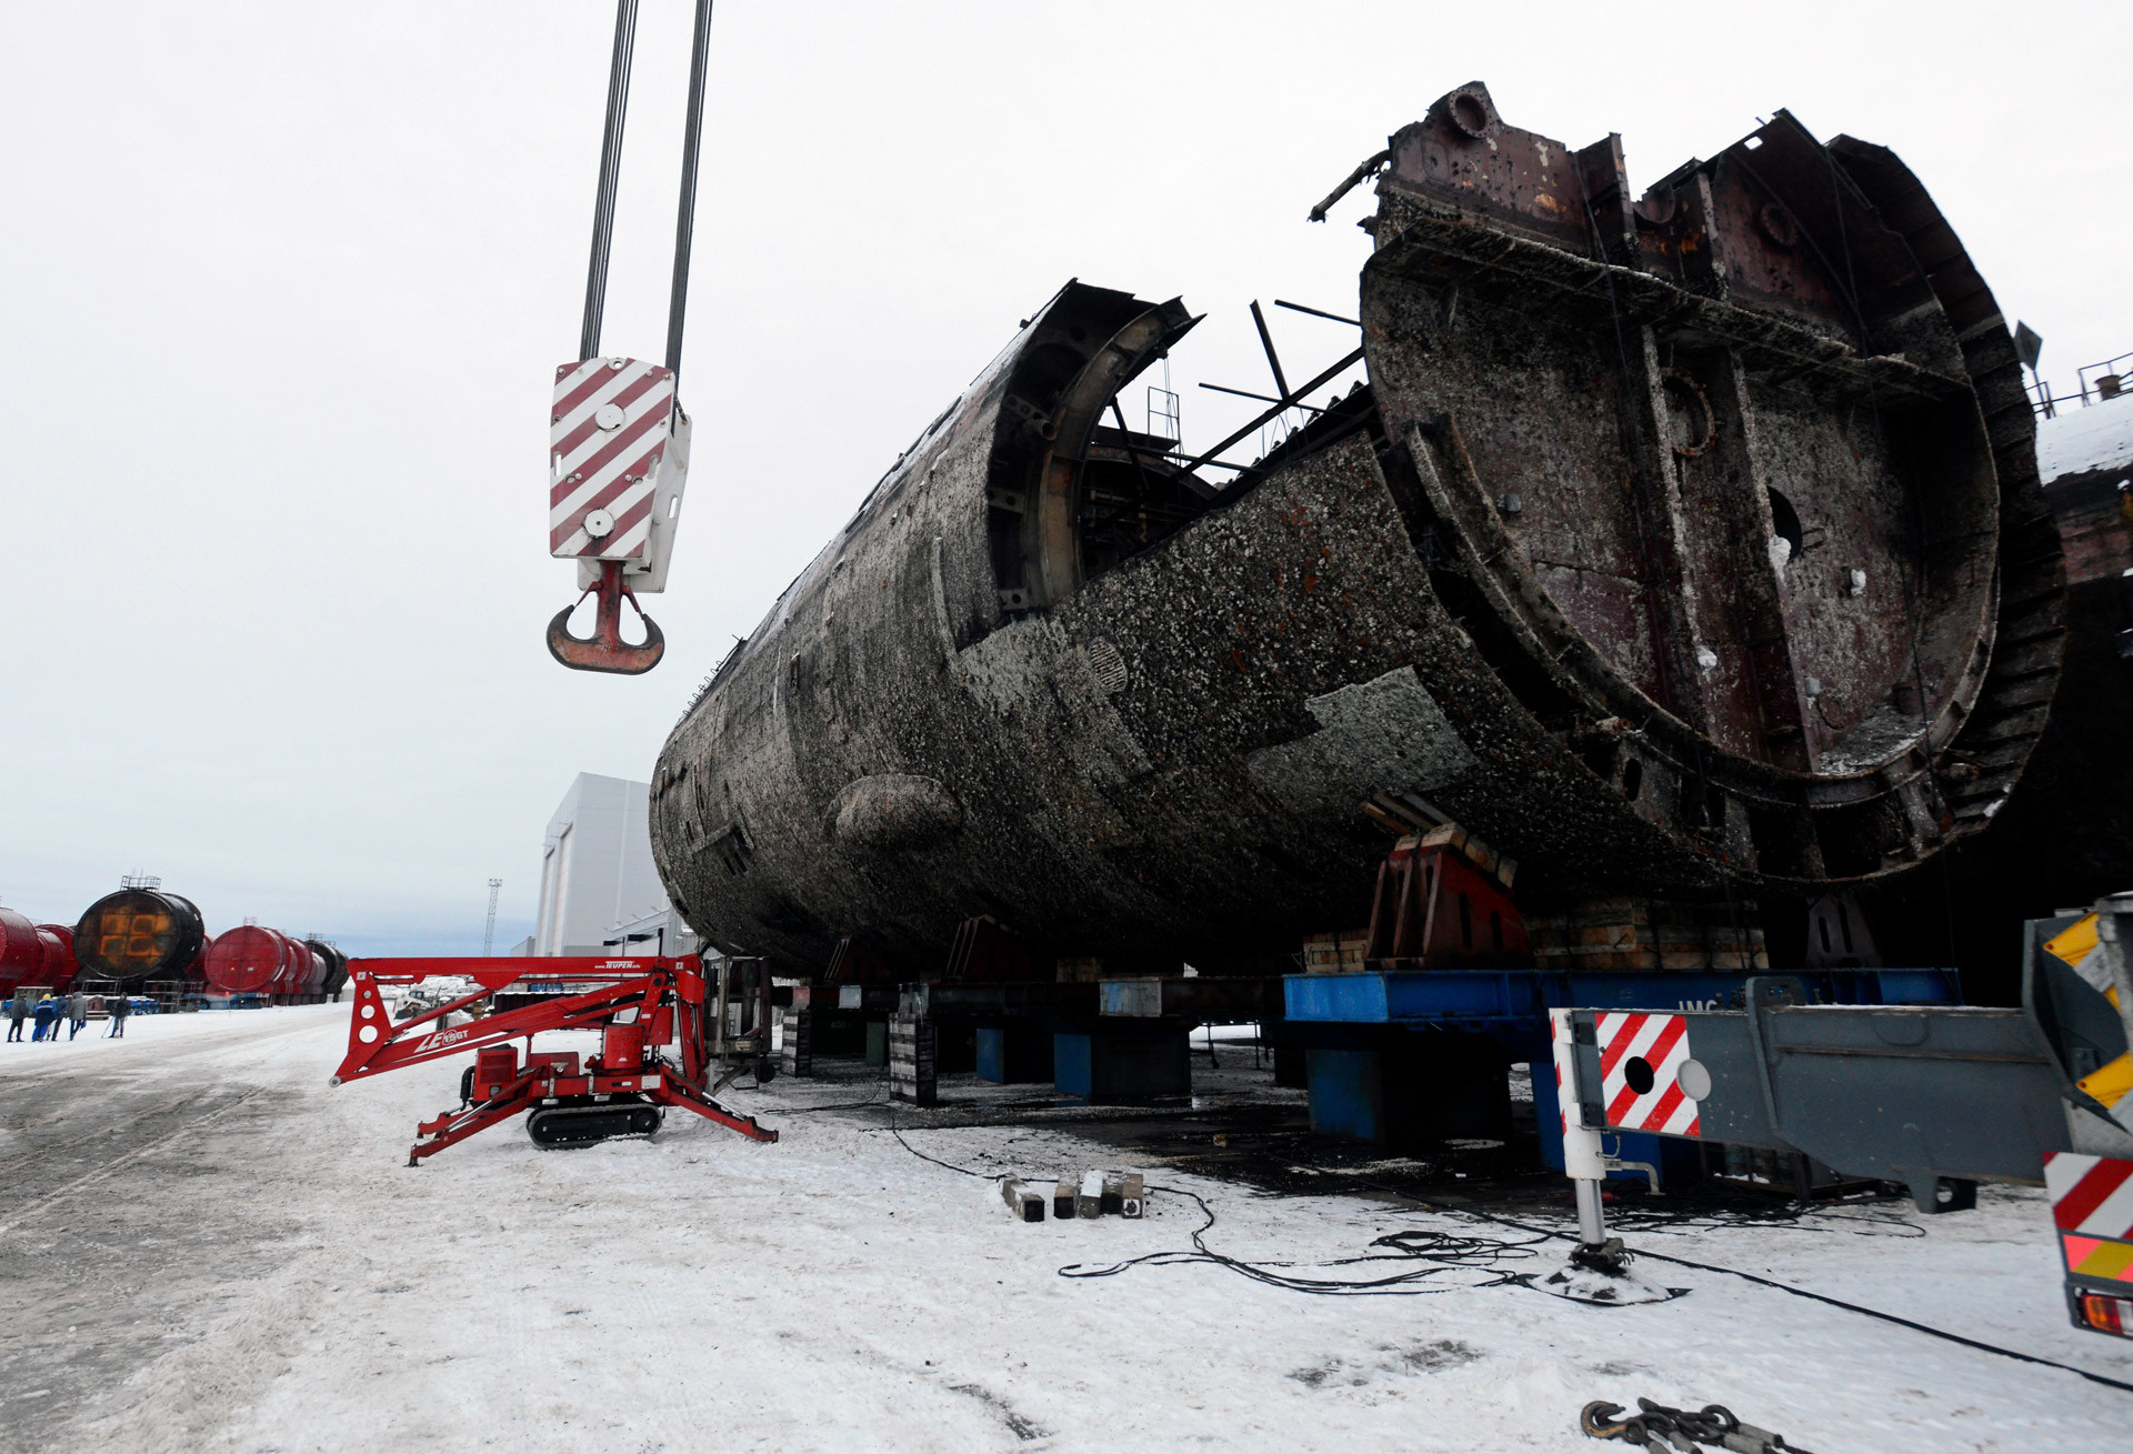
[{"label": "hanging crane hook with striped block and its steel cables", "polygon": [[[623,676],[651,672],[665,655],[665,635],[644,614],[638,591],[665,588],[680,492],[689,471],[689,416],[676,399],[676,382],[689,305],[697,154],[704,141],[710,0],[695,0],[663,367],[599,356],[636,30],[638,0],[616,0],[608,122],[599,145],[599,188],[593,198],[593,256],[584,279],[584,324],[578,335],[578,358],[557,369],[548,480],[548,552],[578,563],[582,588],[572,605],[548,620],[548,655],[574,672]],[[593,633],[572,635],[570,616],[589,595],[595,597]],[[640,644],[623,640],[625,599],[644,623]]]}]

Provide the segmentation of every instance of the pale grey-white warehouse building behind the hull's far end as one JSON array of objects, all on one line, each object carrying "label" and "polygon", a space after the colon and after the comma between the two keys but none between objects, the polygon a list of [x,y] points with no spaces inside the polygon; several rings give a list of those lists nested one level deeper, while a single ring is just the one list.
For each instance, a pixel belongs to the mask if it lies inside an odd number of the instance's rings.
[{"label": "pale grey-white warehouse building behind the hull's far end", "polygon": [[[542,844],[535,955],[685,953],[653,868],[651,785],[580,772]],[[687,949],[695,938],[687,936]]]}]

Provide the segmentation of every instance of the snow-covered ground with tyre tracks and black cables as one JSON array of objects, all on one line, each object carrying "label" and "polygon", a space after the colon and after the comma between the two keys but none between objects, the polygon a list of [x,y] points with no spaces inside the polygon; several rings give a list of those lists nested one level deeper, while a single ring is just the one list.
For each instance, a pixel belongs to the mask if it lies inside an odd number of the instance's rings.
[{"label": "snow-covered ground with tyre tracks and black cables", "polygon": [[[988,1173],[1139,1164],[1205,1198],[1212,1249],[1305,1277],[1423,1266],[1312,1266],[1391,1232],[1525,1234],[1376,1196],[1367,1166],[1261,1194],[1113,1149],[1130,1121],[1101,1147],[949,1126],[966,1109],[796,1113],[866,1079],[734,1094],[779,1145],[674,1115],[582,1151],[495,1130],[410,1170],[459,1066],[331,1089],[346,1015],[0,1047],[0,1445],[1589,1450],[1578,1407],[1638,1394],[1819,1454],[2133,1445],[2129,1392],[1651,1260],[1689,1294],[1595,1309],[1487,1269],[1429,1296],[1303,1296],[1209,1262],[1060,1277],[1190,1249],[1201,1211],[1158,1192],[1143,1222],[1017,1224],[892,1117]],[[2033,1192],[1630,1239],[2133,1382],[2133,1347],[2067,1326]],[[1546,1273],[1563,1247],[1495,1256]]]}]

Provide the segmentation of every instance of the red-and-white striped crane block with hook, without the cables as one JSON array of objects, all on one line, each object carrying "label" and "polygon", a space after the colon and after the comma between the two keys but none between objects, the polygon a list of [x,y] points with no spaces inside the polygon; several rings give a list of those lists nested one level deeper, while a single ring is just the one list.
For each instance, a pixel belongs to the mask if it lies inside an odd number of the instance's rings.
[{"label": "red-and-white striped crane block with hook, without the cables", "polygon": [[[548,554],[578,563],[578,588],[597,595],[591,637],[567,629],[576,603],[548,623],[548,652],[578,672],[651,672],[665,640],[638,593],[665,588],[665,567],[689,478],[689,416],[674,371],[638,358],[580,358],[555,371],[548,416]],[[582,601],[584,595],[578,599]],[[644,644],[623,642],[623,599],[644,620]]]}]

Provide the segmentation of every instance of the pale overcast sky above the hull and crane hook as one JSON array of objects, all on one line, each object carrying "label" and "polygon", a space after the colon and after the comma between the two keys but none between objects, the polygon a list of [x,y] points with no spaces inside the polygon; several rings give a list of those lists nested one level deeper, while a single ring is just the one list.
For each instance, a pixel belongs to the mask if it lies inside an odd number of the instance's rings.
[{"label": "pale overcast sky above the hull and crane hook", "polygon": [[[687,0],[644,0],[606,352],[659,358]],[[1261,388],[1246,305],[1354,305],[1359,192],[1470,79],[1623,134],[1636,188],[1787,107],[1894,147],[2046,375],[2133,350],[2133,6],[721,0],[644,678],[542,627],[608,0],[0,9],[0,902],[132,870],[369,953],[531,930],[576,772],[651,776],[704,674],[1069,277],[1207,313],[1188,443]],[[1335,324],[1276,313],[1290,377]],[[1137,411],[1128,411],[1139,422]]]}]

